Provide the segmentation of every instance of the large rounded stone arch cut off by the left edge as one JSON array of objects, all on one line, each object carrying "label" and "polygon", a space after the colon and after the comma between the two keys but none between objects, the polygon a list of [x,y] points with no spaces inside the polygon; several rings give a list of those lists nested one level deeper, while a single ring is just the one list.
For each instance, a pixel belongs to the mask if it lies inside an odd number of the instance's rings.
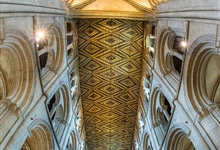
[{"label": "large rounded stone arch cut off by the left edge", "polygon": [[0,99],[6,106],[15,104],[25,112],[35,87],[34,50],[22,32],[6,29],[5,33],[6,39],[0,45]]}]

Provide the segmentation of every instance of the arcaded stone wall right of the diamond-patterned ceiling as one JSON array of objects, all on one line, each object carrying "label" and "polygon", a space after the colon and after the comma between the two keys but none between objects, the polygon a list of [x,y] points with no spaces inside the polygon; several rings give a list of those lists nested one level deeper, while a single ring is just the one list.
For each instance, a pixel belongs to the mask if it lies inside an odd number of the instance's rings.
[{"label": "arcaded stone wall right of the diamond-patterned ceiling", "polygon": [[[219,4],[173,0],[158,5],[157,19],[147,22],[146,38],[154,24],[156,35],[153,58],[145,44],[143,84],[151,86],[139,104],[143,123],[137,127],[143,129],[135,135],[136,149],[220,147]],[[174,46],[181,41],[187,46]]]}]

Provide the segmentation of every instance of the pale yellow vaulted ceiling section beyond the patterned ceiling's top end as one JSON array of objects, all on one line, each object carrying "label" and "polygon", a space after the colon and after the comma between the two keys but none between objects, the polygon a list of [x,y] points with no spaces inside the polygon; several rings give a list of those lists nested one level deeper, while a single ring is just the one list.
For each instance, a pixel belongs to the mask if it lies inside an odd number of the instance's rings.
[{"label": "pale yellow vaulted ceiling section beyond the patterned ceiling's top end", "polygon": [[153,18],[157,3],[167,0],[66,0],[73,18]]}]

